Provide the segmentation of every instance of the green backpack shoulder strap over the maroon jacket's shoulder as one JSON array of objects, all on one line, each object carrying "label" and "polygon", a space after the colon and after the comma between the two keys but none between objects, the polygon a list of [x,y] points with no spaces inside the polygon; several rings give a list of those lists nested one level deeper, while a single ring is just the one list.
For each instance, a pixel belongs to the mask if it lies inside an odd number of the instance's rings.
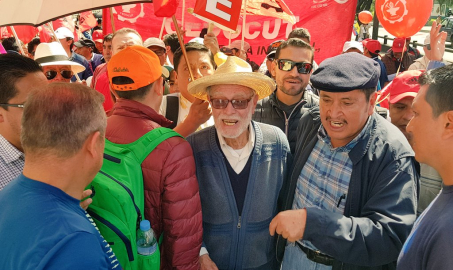
[{"label": "green backpack shoulder strap over the maroon jacket's shoulder", "polygon": [[134,153],[137,160],[141,164],[143,160],[163,141],[171,137],[181,137],[182,135],[169,128],[155,128],[135,142],[128,145],[129,150]]}]

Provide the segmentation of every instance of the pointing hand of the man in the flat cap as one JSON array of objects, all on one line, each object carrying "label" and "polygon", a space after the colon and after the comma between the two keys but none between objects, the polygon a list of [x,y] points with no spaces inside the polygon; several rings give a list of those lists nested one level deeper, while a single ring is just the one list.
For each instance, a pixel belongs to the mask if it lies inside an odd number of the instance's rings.
[{"label": "pointing hand of the man in the flat cap", "polygon": [[288,210],[278,213],[269,225],[269,233],[280,234],[290,242],[302,239],[307,222],[307,210]]}]

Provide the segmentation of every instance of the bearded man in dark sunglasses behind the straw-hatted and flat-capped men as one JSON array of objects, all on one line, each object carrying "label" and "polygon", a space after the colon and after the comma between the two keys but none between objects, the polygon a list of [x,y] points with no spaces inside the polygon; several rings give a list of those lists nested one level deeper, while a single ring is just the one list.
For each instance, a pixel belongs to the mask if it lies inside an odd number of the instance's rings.
[{"label": "bearded man in dark sunglasses behind the straw-hatted and flat-capped men", "polygon": [[279,127],[294,153],[296,131],[304,112],[318,105],[318,97],[306,91],[313,68],[313,48],[298,38],[281,42],[269,70],[277,90],[258,102],[253,120]]}]

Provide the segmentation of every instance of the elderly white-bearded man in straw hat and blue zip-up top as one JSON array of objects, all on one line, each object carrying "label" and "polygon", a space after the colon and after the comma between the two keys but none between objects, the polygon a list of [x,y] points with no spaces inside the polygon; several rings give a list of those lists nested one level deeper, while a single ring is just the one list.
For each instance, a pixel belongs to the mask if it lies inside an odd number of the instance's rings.
[{"label": "elderly white-bearded man in straw hat and blue zip-up top", "polygon": [[194,152],[203,214],[201,269],[277,269],[268,226],[291,159],[285,134],[252,121],[274,81],[230,56],[188,91],[207,100],[214,126],[187,138]]}]

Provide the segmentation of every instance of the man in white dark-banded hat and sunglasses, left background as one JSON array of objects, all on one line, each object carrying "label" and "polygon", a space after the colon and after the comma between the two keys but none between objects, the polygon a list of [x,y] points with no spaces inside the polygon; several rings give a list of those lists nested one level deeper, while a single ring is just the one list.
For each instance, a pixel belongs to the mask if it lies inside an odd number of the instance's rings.
[{"label": "man in white dark-banded hat and sunglasses, left background", "polygon": [[84,66],[70,61],[57,42],[39,44],[36,47],[35,61],[42,66],[49,82],[70,82],[75,73],[85,70]]}]

